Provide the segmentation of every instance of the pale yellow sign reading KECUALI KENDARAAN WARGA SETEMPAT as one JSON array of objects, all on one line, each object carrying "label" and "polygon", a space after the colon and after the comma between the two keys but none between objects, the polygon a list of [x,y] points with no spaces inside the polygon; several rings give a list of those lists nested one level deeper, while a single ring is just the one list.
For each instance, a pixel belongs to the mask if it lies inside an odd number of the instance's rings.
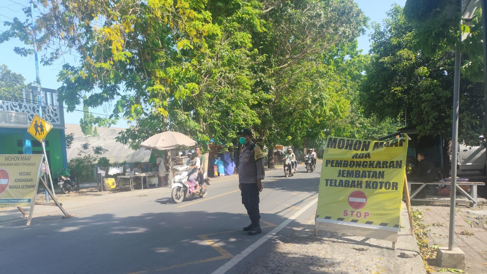
[{"label": "pale yellow sign reading KECUALI KENDARAAN WARGA SETEMPAT", "polygon": [[0,155],[0,206],[33,206],[42,154]]}]

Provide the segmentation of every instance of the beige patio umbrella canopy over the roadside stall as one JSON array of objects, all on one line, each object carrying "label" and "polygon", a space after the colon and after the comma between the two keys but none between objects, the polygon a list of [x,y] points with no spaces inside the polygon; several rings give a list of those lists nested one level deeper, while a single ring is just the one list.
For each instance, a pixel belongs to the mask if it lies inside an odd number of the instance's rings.
[{"label": "beige patio umbrella canopy over the roadside stall", "polygon": [[188,147],[194,145],[196,145],[196,141],[182,133],[175,131],[165,131],[143,141],[140,144],[140,147],[147,149],[167,150],[175,149],[179,146]]}]

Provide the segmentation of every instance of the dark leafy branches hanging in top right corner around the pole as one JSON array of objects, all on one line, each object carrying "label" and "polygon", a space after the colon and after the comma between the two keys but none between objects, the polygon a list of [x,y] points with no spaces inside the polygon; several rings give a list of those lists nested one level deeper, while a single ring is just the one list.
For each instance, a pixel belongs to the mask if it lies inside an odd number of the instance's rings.
[{"label": "dark leafy branches hanging in top right corner around the pole", "polygon": [[[468,1],[463,2],[465,4]],[[414,49],[423,55],[434,56],[437,52],[453,52],[458,46],[462,52],[462,76],[472,82],[484,81],[480,8],[471,14],[471,19],[463,20],[461,25],[461,8],[458,0],[407,0],[404,15],[414,28]],[[458,43],[460,30],[462,43]]]}]

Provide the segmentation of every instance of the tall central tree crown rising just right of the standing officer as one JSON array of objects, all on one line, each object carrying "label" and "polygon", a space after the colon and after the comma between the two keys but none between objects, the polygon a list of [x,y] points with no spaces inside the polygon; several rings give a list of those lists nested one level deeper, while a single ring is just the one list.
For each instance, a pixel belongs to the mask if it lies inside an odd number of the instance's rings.
[{"label": "tall central tree crown rising just right of the standing officer", "polygon": [[260,141],[299,146],[307,135],[323,137],[349,107],[328,61],[347,52],[367,18],[345,0],[281,1],[263,18],[268,31],[253,33],[265,57],[255,90],[268,95],[256,105]]}]

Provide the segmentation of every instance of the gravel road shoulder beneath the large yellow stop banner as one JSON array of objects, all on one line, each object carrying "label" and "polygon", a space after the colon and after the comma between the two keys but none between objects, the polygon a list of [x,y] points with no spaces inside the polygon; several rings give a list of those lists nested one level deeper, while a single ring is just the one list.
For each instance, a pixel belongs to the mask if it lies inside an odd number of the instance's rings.
[{"label": "gravel road shoulder beneath the large yellow stop banner", "polygon": [[404,203],[397,250],[383,240],[325,231],[314,236],[314,224],[315,215],[304,223],[291,223],[291,235],[243,273],[426,274]]}]

